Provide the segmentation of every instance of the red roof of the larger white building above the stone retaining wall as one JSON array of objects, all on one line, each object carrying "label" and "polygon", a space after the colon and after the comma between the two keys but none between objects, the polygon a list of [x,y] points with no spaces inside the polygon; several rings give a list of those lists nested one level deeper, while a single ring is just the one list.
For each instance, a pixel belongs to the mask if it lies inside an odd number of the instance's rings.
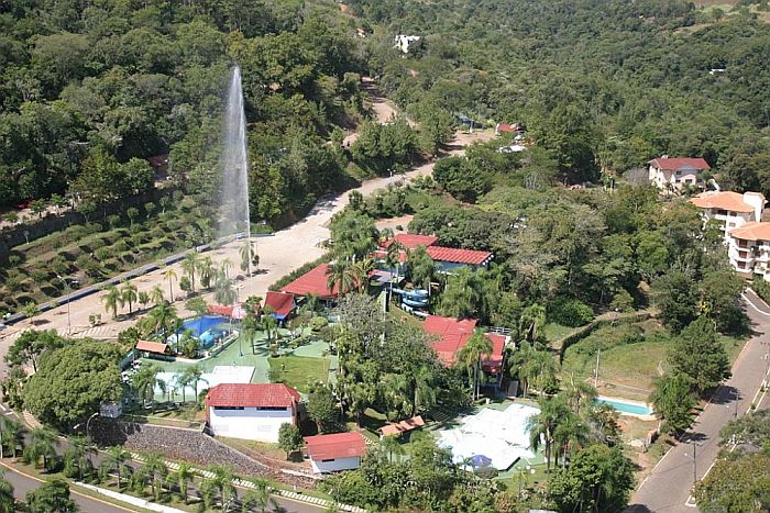
[{"label": "red roof of the larger white building above the stone retaining wall", "polygon": [[300,400],[299,392],[283,383],[221,383],[206,395],[208,406],[287,408]]}]

